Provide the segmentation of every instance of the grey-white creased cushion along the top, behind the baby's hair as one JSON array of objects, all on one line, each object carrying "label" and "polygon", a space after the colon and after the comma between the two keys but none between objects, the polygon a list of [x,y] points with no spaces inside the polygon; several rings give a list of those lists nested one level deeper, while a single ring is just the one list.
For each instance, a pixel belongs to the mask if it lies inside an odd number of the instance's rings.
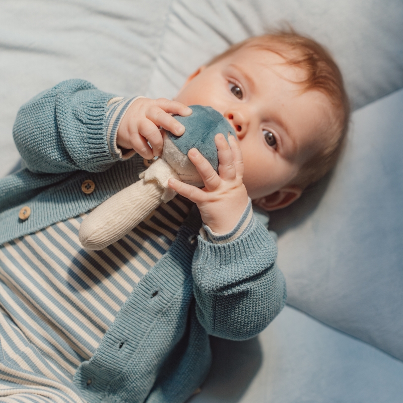
[{"label": "grey-white creased cushion along the top, behind the baby's hair", "polygon": [[148,95],[173,97],[230,44],[288,22],[330,50],[357,109],[403,87],[402,21],[400,0],[174,1]]}]

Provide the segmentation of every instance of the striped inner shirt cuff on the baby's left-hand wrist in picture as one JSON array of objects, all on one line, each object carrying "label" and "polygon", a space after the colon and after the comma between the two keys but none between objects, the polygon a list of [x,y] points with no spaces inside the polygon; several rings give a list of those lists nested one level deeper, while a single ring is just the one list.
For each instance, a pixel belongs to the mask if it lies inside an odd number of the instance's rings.
[{"label": "striped inner shirt cuff on the baby's left-hand wrist in picture", "polygon": [[114,159],[127,160],[136,154],[135,150],[128,150],[127,152],[123,153],[122,149],[120,149],[116,144],[116,136],[123,116],[131,104],[139,98],[145,97],[141,95],[134,98],[115,97],[110,99],[107,103],[108,111],[106,112],[105,125],[106,142],[108,144],[109,152]]}]

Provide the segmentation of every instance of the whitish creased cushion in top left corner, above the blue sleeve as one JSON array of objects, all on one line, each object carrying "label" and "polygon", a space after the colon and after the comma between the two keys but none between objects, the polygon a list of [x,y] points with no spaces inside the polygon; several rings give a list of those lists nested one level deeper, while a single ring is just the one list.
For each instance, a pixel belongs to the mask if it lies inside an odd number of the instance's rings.
[{"label": "whitish creased cushion in top left corner, above the blue sleeve", "polygon": [[0,2],[0,176],[19,159],[19,107],[81,78],[123,96],[147,92],[172,0]]}]

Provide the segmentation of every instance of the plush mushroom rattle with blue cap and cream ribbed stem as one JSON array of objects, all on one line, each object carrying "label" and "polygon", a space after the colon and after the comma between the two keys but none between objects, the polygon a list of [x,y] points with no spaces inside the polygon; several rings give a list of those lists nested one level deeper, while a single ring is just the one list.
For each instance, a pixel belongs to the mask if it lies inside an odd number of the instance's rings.
[{"label": "plush mushroom rattle with blue cap and cream ribbed stem", "polygon": [[190,116],[175,115],[185,126],[182,136],[163,130],[162,155],[140,174],[140,180],[122,189],[92,211],[80,226],[81,244],[88,249],[100,250],[129,233],[162,202],[176,196],[168,186],[168,179],[203,187],[196,167],[187,153],[196,148],[218,172],[218,154],[214,138],[223,133],[235,136],[227,119],[208,106],[192,105]]}]

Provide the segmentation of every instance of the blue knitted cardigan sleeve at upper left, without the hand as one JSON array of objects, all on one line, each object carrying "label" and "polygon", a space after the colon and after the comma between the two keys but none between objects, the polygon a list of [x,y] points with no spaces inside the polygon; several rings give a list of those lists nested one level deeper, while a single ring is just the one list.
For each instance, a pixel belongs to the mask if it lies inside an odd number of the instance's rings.
[{"label": "blue knitted cardigan sleeve at upper left, without the hand", "polygon": [[[46,173],[100,172],[121,159],[121,153],[113,148],[117,130],[110,131],[107,138],[107,112],[112,109],[108,101],[113,97],[87,81],[68,80],[23,105],[13,134],[28,169]],[[123,112],[120,108],[120,114],[109,117],[121,118],[129,104],[126,100]]]}]

